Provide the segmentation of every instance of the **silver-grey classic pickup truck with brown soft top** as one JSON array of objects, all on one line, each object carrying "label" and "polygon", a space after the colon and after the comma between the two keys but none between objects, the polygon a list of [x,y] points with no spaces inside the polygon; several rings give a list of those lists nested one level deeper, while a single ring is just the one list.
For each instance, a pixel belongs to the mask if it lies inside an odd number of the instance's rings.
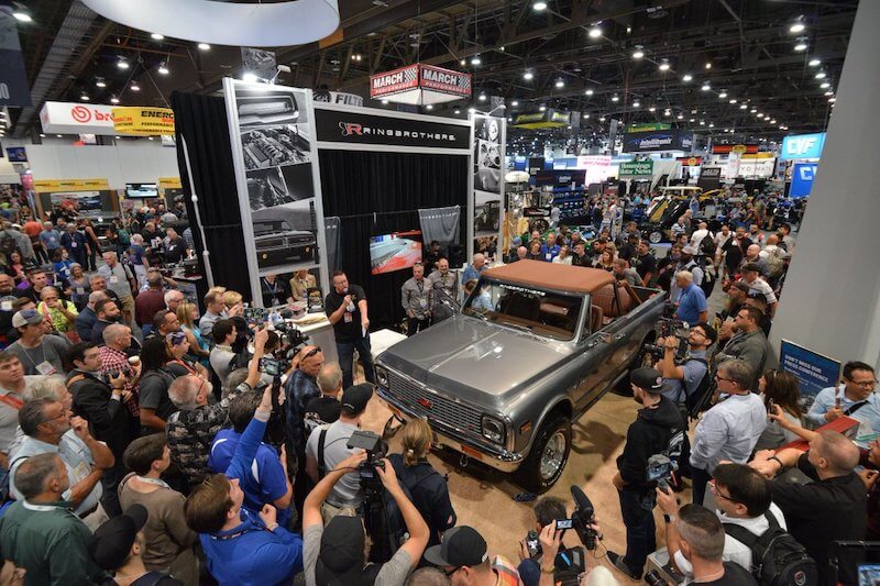
[{"label": "silver-grey classic pickup truck with brown soft top", "polygon": [[376,358],[378,394],[398,418],[427,418],[435,443],[542,493],[565,467],[572,421],[626,384],[664,305],[602,269],[490,268],[460,312]]}]

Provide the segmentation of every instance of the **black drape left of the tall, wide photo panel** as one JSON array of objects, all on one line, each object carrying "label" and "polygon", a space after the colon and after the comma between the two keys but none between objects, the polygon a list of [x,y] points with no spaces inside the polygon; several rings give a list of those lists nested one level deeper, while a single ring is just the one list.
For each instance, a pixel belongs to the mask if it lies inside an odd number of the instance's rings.
[{"label": "black drape left of the tall, wide photo panel", "polygon": [[[199,259],[202,259],[201,251],[207,246],[216,285],[239,291],[249,299],[251,283],[226,102],[223,98],[175,91],[172,93],[172,109],[177,131],[177,165],[186,195],[184,201]],[[189,154],[193,185],[199,197],[198,209],[206,242],[202,242],[201,231],[196,225],[184,144]]]}]

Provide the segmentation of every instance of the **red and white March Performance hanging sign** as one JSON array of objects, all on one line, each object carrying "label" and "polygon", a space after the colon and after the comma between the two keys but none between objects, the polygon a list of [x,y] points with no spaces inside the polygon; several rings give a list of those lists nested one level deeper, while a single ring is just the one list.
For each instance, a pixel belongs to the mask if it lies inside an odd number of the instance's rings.
[{"label": "red and white March Performance hanging sign", "polygon": [[471,74],[415,63],[370,76],[370,97],[425,106],[471,96]]}]

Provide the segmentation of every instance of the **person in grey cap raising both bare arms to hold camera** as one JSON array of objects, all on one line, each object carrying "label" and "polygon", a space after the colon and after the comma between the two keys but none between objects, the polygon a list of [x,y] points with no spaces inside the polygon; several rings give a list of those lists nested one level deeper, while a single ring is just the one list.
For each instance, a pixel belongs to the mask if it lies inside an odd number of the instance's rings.
[{"label": "person in grey cap raising both bare arms to hold camera", "polygon": [[404,584],[428,544],[428,526],[419,511],[409,501],[397,482],[394,467],[387,460],[375,471],[385,490],[394,498],[404,517],[409,539],[394,553],[391,561],[380,564],[366,563],[366,530],[363,520],[345,509],[333,517],[327,527],[321,517],[321,504],[342,476],[354,471],[366,454],[353,454],[339,463],[318,483],[306,497],[302,507],[302,533],[305,540],[306,586],[329,584]]}]

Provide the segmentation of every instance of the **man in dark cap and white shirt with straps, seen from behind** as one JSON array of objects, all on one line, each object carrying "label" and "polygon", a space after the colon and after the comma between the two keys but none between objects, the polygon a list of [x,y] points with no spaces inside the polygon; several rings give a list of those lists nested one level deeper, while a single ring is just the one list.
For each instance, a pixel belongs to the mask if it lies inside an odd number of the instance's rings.
[{"label": "man in dark cap and white shirt with straps, seen from behind", "polygon": [[[351,456],[356,449],[349,447],[352,434],[361,428],[361,417],[373,397],[373,385],[361,383],[342,392],[342,411],[339,419],[320,427],[309,435],[306,444],[306,474],[318,484],[327,471],[336,468],[340,462]],[[363,499],[361,477],[358,471],[342,476],[321,505],[324,522],[339,515],[345,507],[358,508]]]}]

